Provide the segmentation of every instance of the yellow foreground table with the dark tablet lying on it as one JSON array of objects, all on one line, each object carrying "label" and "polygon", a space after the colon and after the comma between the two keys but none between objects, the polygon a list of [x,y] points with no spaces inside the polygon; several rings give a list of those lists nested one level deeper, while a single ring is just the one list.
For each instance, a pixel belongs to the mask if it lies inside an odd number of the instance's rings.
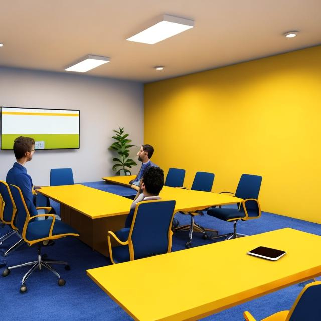
[{"label": "yellow foreground table with the dark tablet lying on it", "polygon": [[[287,252],[268,261],[246,252]],[[140,321],[197,320],[321,274],[321,237],[290,228],[87,270]],[[191,273],[197,282],[189,282]],[[173,284],[173,275],[180,275]]]}]

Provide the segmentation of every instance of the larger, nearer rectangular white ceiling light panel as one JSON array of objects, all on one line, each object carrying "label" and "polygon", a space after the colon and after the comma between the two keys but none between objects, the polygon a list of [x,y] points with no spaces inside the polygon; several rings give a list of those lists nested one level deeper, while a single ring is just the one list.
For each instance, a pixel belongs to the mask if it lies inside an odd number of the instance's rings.
[{"label": "larger, nearer rectangular white ceiling light panel", "polygon": [[126,40],[153,45],[193,27],[193,20],[163,15],[161,21]]}]

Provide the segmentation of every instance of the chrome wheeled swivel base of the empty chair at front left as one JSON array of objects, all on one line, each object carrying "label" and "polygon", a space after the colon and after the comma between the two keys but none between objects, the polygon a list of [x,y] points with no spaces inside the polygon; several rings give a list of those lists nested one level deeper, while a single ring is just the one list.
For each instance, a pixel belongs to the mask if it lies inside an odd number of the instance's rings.
[{"label": "chrome wheeled swivel base of the empty chair at front left", "polygon": [[39,245],[39,247],[38,247],[38,260],[37,261],[28,262],[28,263],[24,263],[24,264],[8,267],[3,271],[2,276],[4,276],[4,277],[8,276],[10,274],[11,270],[16,269],[18,267],[32,265],[31,269],[22,278],[22,285],[20,287],[20,293],[25,293],[27,291],[27,286],[26,286],[25,283],[26,283],[28,277],[31,275],[31,273],[34,272],[36,269],[41,270],[42,267],[47,268],[49,271],[51,271],[52,273],[54,273],[58,277],[58,285],[59,286],[65,285],[66,281],[64,279],[62,279],[60,277],[60,275],[50,266],[51,264],[62,264],[62,265],[65,265],[65,270],[67,270],[67,271],[70,270],[70,266],[68,265],[67,262],[54,261],[54,260],[46,260],[46,261],[44,261],[42,259],[42,255],[41,255],[41,245]]}]

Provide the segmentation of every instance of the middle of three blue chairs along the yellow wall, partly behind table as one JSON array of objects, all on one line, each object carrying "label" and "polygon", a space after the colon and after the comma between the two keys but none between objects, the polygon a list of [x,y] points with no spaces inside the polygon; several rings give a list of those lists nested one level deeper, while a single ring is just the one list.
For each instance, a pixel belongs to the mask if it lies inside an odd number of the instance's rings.
[{"label": "middle of three blue chairs along the yellow wall, partly behind table", "polygon": [[[214,177],[215,177],[215,175],[213,173],[196,172],[191,190],[211,192],[213,182],[214,182]],[[175,227],[173,230],[175,232],[189,231],[189,239],[185,243],[185,246],[187,248],[190,248],[192,246],[193,231],[194,232],[201,232],[203,235],[206,235],[206,238],[211,238],[211,237],[213,237],[213,235],[216,236],[218,234],[218,232],[216,230],[207,229],[207,228],[204,228],[203,226],[195,223],[194,216],[204,215],[203,211],[205,211],[205,210],[206,209],[203,209],[202,211],[180,212],[182,214],[190,215],[191,216],[191,223]]]}]

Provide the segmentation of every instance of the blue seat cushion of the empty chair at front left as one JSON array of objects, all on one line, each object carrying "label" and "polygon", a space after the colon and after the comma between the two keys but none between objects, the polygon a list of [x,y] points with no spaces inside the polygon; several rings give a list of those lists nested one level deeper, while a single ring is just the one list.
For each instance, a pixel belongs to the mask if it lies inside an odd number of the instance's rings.
[{"label": "blue seat cushion of the empty chair at front left", "polygon": [[[34,241],[42,238],[46,238],[49,235],[52,220],[32,221],[29,222],[26,231],[26,239]],[[52,235],[76,233],[79,234],[74,228],[65,224],[62,221],[55,220],[55,225],[52,231]]]}]

